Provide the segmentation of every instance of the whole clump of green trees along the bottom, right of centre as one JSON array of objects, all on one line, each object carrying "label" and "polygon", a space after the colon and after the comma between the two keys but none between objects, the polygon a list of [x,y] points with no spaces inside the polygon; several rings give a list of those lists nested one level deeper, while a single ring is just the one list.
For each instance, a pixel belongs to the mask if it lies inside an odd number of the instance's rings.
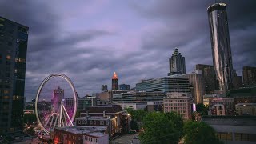
[{"label": "whole clump of green trees along the bottom, right of centre", "polygon": [[181,139],[186,144],[222,143],[216,137],[212,127],[204,122],[184,121],[181,114],[174,112],[149,113],[146,110],[131,109],[127,109],[127,111],[131,114],[130,128],[132,130],[138,130],[137,122],[142,122],[144,132],[139,135],[142,144],[178,143]]}]

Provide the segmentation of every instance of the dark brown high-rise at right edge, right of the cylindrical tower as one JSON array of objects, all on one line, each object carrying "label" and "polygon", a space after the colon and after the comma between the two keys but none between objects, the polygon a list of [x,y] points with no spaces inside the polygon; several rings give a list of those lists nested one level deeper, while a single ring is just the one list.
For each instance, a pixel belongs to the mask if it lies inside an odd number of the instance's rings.
[{"label": "dark brown high-rise at right edge, right of the cylindrical tower", "polygon": [[245,86],[256,86],[256,67],[244,66],[242,77]]}]

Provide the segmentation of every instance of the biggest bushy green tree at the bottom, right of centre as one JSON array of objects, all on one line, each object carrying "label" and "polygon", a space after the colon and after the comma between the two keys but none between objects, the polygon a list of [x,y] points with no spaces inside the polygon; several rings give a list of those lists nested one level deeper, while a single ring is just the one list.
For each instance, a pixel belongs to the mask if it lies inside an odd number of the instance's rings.
[{"label": "biggest bushy green tree at the bottom, right of centre", "polygon": [[179,134],[169,115],[152,112],[143,119],[144,132],[139,135],[144,143],[178,143]]}]

